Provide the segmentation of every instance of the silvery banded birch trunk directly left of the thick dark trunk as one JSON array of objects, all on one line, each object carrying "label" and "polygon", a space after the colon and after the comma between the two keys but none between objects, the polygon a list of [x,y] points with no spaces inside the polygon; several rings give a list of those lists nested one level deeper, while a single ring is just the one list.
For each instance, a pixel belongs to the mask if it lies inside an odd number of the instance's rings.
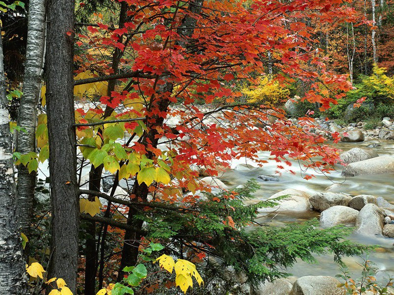
[{"label": "silvery banded birch trunk directly left of the thick dark trunk", "polygon": [[[19,132],[17,137],[17,151],[21,154],[36,151],[36,105],[38,103],[41,86],[44,39],[45,0],[30,0],[25,75],[22,89],[23,96],[21,97],[18,116],[18,125],[26,130],[25,132]],[[27,236],[29,236],[30,233],[35,179],[35,171],[29,174],[26,166],[18,166],[17,196],[19,223],[22,233]]]}]

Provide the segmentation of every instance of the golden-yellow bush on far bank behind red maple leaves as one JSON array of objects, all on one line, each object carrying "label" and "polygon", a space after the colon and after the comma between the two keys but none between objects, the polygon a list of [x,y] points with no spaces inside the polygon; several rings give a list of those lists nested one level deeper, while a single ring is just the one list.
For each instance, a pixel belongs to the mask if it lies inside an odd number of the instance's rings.
[{"label": "golden-yellow bush on far bank behind red maple leaves", "polygon": [[289,89],[281,87],[275,81],[269,81],[267,77],[262,78],[257,86],[244,88],[242,92],[248,96],[248,102],[268,106],[274,106],[290,95]]}]

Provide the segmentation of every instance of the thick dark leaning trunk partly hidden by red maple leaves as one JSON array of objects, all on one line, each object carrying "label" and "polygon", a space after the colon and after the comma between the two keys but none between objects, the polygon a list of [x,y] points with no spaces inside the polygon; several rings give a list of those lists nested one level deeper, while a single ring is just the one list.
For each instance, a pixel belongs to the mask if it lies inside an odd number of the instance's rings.
[{"label": "thick dark leaning trunk partly hidden by red maple leaves", "polygon": [[[204,0],[190,1],[188,10],[192,14],[200,14],[203,3]],[[192,16],[187,15],[182,20],[182,25],[178,29],[178,33],[181,36],[190,37],[194,31],[195,26],[196,26],[196,19]],[[187,47],[187,41],[185,40],[178,42],[178,44],[181,45],[182,47]],[[160,87],[160,89],[157,89],[157,92],[162,94],[171,93],[173,87],[174,86],[171,83],[165,83],[163,86]],[[155,108],[157,108],[160,112],[167,112],[168,106],[170,105],[170,100],[167,98],[166,95],[163,95],[162,98],[160,98],[157,102],[155,102],[155,104],[156,104]],[[156,138],[156,135],[158,134],[158,132],[157,129],[152,127],[161,126],[163,122],[164,122],[164,118],[155,116],[152,122],[148,125],[150,131],[148,132],[146,137],[149,138],[153,148],[157,148],[158,138]],[[145,146],[147,146],[147,139],[145,138],[142,143],[145,144]],[[151,159],[152,154],[148,154],[147,157]],[[132,193],[136,195],[137,197],[136,200],[139,200],[141,198],[142,202],[146,202],[148,198],[149,188],[145,183],[139,184],[138,181],[135,180]],[[130,225],[136,229],[142,229],[142,224],[143,224],[142,221],[135,220],[134,216],[135,216],[135,209],[129,207],[129,213],[127,216],[127,225]],[[122,249],[121,267],[119,269],[118,281],[121,281],[121,279],[123,278],[124,272],[122,271],[122,269],[125,266],[134,266],[137,263],[140,239],[141,239],[140,233],[131,230],[125,231],[124,244]]]}]

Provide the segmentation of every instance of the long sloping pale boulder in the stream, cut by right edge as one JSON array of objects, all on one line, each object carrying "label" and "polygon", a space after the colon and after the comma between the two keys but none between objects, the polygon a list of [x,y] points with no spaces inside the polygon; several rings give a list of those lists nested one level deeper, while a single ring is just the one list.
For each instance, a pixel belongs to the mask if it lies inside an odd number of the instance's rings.
[{"label": "long sloping pale boulder in the stream, cut by right edge", "polygon": [[344,177],[354,177],[358,175],[371,175],[394,173],[394,157],[379,156],[372,159],[350,163],[342,171]]}]

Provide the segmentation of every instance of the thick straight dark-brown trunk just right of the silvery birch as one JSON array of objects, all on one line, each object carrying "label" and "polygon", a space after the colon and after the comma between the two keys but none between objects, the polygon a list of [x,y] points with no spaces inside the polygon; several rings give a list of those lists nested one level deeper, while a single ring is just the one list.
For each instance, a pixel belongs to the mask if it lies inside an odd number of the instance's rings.
[{"label": "thick straight dark-brown trunk just right of the silvery birch", "polygon": [[73,97],[74,1],[50,0],[46,49],[52,241],[49,277],[76,294],[79,195]]}]

